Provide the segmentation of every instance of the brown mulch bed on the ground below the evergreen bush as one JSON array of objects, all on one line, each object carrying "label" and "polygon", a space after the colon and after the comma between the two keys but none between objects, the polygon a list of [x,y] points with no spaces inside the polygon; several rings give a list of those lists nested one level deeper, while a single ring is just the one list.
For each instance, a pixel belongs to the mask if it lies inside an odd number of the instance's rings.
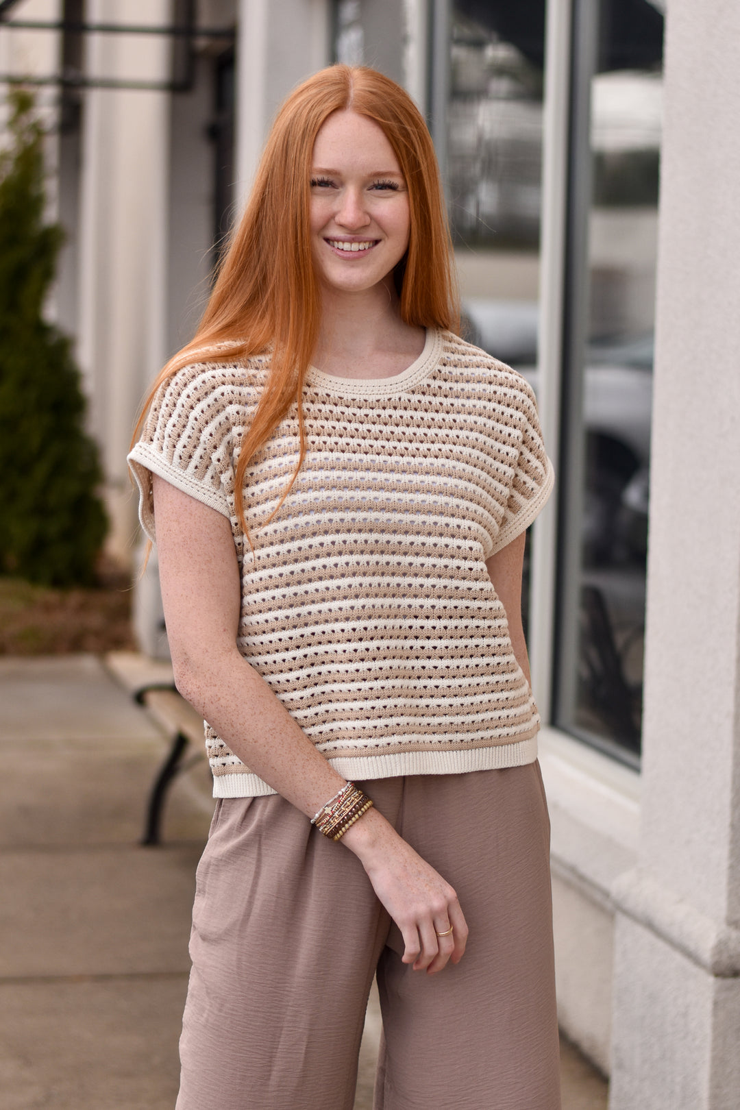
[{"label": "brown mulch bed on the ground below the evergreen bush", "polygon": [[0,655],[133,649],[132,594],[121,576],[85,589],[0,577]]}]

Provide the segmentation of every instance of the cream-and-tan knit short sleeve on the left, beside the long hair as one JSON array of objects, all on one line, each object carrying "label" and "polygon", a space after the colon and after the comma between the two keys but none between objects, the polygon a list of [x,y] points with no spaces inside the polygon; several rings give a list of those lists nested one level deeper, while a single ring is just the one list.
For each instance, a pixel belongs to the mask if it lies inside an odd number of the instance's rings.
[{"label": "cream-and-tan knit short sleeve on the left, beside the long hair", "polygon": [[231,517],[226,488],[240,400],[231,370],[230,374],[217,363],[185,366],[162,383],[152,401],[141,437],[128,456],[139,487],[139,519],[152,541],[152,474]]}]

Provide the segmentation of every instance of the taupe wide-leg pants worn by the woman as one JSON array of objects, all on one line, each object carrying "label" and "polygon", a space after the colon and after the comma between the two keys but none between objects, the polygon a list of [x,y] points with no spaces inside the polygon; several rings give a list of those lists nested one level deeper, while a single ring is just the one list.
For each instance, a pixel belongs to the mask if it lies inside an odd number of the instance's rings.
[{"label": "taupe wide-leg pants worn by the woman", "polygon": [[412,971],[347,848],[281,797],[219,801],[197,869],[176,1110],[352,1110],[376,971],[375,1110],[559,1110],[539,766],[363,785],[455,887],[464,958]]}]

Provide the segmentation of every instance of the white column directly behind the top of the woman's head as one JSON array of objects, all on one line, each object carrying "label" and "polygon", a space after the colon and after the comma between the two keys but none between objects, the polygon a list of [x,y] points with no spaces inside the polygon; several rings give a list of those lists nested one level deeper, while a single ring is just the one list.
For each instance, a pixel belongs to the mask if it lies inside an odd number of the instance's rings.
[{"label": "white column directly behind the top of the woman's head", "polygon": [[328,0],[240,0],[236,44],[236,181],[241,206],[275,111],[328,65]]}]

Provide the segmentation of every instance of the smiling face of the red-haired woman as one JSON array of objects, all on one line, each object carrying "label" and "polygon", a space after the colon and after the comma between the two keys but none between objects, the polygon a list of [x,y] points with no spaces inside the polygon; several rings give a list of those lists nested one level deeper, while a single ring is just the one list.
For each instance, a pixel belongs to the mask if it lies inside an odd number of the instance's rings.
[{"label": "smiling face of the red-haired woman", "polygon": [[[408,246],[408,191],[373,120],[334,112],[314,143],[311,243],[325,292],[363,293],[392,274]],[[393,291],[393,281],[385,286]]]}]

